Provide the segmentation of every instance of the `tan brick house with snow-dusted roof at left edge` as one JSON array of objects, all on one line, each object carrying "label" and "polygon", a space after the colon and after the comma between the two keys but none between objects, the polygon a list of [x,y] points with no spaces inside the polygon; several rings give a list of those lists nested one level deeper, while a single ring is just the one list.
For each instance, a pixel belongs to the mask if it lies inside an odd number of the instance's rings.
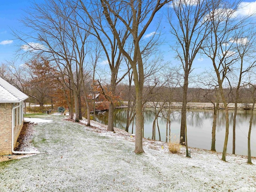
[{"label": "tan brick house with snow-dusted roof at left edge", "polygon": [[23,102],[28,96],[0,78],[0,155],[14,153],[23,126]]}]

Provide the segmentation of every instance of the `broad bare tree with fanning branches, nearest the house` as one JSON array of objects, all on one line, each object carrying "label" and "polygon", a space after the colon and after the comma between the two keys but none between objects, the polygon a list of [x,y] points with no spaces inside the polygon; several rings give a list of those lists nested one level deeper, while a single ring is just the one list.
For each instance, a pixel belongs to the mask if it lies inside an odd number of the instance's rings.
[{"label": "broad bare tree with fanning branches, nearest the house", "polygon": [[59,70],[66,72],[74,93],[76,121],[79,121],[78,97],[81,86],[84,88],[83,70],[88,32],[81,30],[80,26],[84,23],[77,18],[75,9],[70,2],[62,0],[34,3],[28,11],[28,17],[22,21],[32,32],[19,33],[16,37],[24,43],[21,49],[26,50],[27,54],[44,55],[48,60],[55,61]]}]

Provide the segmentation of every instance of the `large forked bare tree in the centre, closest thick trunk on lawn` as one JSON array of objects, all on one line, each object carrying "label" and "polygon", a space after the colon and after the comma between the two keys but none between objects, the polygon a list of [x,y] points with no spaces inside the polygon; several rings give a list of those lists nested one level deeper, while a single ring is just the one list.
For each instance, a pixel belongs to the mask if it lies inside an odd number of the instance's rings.
[{"label": "large forked bare tree in the centre, closest thick trunk on lawn", "polygon": [[[107,1],[101,0],[103,13],[112,29],[114,38],[118,43],[120,52],[128,59],[134,73],[134,84],[136,90],[136,137],[135,137],[135,153],[143,153],[142,148],[142,130],[143,122],[143,87],[144,87],[144,68],[142,61],[141,40],[146,29],[152,22],[156,12],[160,10],[165,4],[171,0],[130,0],[130,1]],[[115,26],[115,20],[118,19],[118,27]],[[132,55],[122,46],[122,39],[120,38],[120,26],[127,28],[132,34],[133,51]]]}]

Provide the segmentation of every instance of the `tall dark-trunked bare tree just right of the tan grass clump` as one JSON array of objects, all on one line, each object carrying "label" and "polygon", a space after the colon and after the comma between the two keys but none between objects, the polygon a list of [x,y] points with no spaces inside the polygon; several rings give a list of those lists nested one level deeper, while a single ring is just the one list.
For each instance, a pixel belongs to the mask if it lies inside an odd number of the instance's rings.
[{"label": "tall dark-trunked bare tree just right of the tan grass clump", "polygon": [[180,142],[182,143],[185,141],[189,74],[192,71],[193,61],[207,36],[208,26],[204,21],[206,14],[208,14],[206,0],[174,0],[168,14],[170,33],[176,39],[176,44],[172,45],[172,48],[176,52],[176,58],[181,62],[184,72],[180,126],[180,137],[182,138]]}]

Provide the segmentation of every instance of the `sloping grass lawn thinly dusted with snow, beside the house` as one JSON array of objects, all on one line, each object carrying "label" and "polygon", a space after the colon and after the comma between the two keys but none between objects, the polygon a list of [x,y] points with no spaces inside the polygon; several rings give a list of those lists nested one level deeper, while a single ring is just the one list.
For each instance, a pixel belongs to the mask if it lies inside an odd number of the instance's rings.
[{"label": "sloping grass lawn thinly dusted with snow, beside the house", "polygon": [[47,117],[53,121],[34,126],[42,154],[0,162],[0,192],[256,191],[256,166],[247,157],[228,154],[223,162],[220,153],[191,148],[186,158],[185,148],[171,154],[166,143],[146,139],[138,155],[134,136],[122,130]]}]

